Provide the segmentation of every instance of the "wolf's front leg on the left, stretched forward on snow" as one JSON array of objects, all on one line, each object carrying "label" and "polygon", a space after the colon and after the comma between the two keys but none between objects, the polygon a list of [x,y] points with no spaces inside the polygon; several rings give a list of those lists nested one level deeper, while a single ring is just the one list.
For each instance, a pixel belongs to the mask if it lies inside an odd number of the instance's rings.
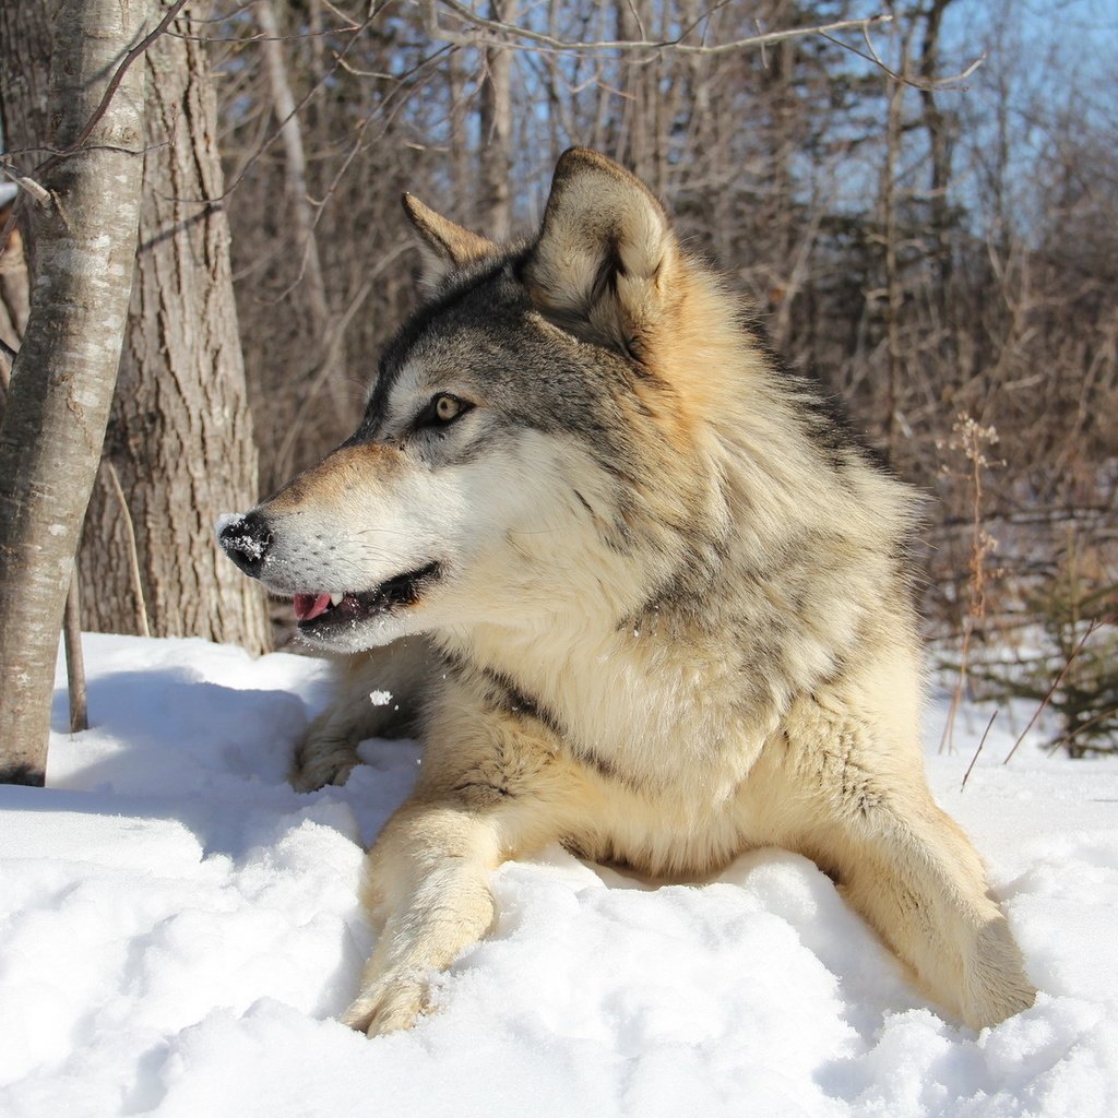
[{"label": "wolf's front leg on the left, stretched forward on snow", "polygon": [[369,1035],[415,1023],[433,974],[492,926],[492,871],[563,837],[587,797],[546,727],[452,698],[432,718],[411,798],[369,851],[363,900],[382,931],[342,1017]]}]

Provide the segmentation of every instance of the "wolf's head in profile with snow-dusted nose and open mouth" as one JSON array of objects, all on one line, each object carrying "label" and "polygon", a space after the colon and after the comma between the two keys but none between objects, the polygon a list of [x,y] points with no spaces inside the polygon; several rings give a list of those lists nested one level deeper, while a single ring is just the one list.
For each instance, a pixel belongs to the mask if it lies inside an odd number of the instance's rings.
[{"label": "wolf's head in profile with snow-dusted nose and open mouth", "polygon": [[[580,610],[620,619],[709,581],[733,494],[707,444],[742,389],[743,332],[655,197],[572,149],[530,243],[496,246],[410,197],[405,209],[425,303],[353,436],[221,518],[229,557],[294,596],[306,638],[344,650]],[[709,373],[724,366],[732,383]]]}]

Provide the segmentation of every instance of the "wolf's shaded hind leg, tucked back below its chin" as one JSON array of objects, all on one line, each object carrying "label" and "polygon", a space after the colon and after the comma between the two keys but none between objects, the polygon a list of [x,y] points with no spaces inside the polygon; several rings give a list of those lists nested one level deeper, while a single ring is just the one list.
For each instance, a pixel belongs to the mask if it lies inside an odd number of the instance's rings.
[{"label": "wolf's shaded hind leg, tucked back below its chin", "polygon": [[433,663],[421,637],[406,637],[348,657],[339,666],[333,702],[311,722],[295,747],[292,787],[314,792],[326,784],[344,784],[359,764],[359,741],[415,733]]}]

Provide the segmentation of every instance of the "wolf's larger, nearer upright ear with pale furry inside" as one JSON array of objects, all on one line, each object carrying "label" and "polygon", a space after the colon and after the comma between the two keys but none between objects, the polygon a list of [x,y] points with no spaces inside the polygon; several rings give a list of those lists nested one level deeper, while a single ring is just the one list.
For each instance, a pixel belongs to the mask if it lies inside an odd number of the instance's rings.
[{"label": "wolf's larger, nearer upright ear with pale furry inside", "polygon": [[667,215],[639,179],[585,148],[563,152],[523,272],[541,311],[639,357],[671,302],[679,260]]}]

